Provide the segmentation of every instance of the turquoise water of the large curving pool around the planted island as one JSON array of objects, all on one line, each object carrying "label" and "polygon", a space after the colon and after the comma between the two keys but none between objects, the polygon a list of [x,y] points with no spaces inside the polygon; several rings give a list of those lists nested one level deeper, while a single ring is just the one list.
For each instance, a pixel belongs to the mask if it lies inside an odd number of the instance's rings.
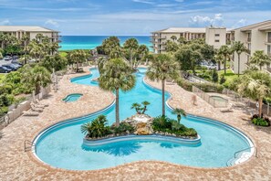
[{"label": "turquoise water of the large curving pool around the planted island", "polygon": [[[120,92],[120,119],[130,117],[135,112],[130,110],[133,102],[150,101],[146,113],[158,116],[162,112],[162,92],[151,89],[143,82],[146,69],[136,74],[136,87],[129,92]],[[91,81],[99,76],[97,69],[91,69],[92,75],[73,79],[73,83],[98,86]],[[167,99],[170,97],[166,94]],[[86,105],[87,106],[87,105]],[[104,112],[109,124],[114,122],[114,106]],[[36,141],[37,157],[59,168],[71,170],[95,170],[115,165],[122,165],[139,160],[161,160],[180,165],[199,167],[224,167],[235,152],[250,147],[245,137],[221,122],[188,115],[182,123],[193,127],[201,135],[201,144],[173,144],[164,141],[133,140],[106,144],[97,147],[84,146],[84,135],[80,126],[96,118],[99,113],[59,123],[54,128],[42,133]],[[170,108],[166,114],[172,115]],[[75,122],[76,121],[76,122]]]}]

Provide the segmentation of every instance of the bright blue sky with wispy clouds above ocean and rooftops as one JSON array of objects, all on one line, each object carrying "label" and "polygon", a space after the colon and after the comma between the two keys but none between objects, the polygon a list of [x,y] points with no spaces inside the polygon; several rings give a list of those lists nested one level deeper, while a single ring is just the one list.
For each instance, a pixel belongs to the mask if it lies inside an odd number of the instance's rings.
[{"label": "bright blue sky with wispy clouds above ocean and rooftops", "polygon": [[270,0],[0,0],[0,25],[62,35],[149,35],[166,27],[242,27],[271,19]]}]

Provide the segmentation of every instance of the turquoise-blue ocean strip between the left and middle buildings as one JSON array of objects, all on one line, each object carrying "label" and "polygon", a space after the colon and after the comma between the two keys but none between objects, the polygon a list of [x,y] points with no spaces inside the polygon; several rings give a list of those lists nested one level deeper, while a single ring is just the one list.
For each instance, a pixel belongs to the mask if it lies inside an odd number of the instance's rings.
[{"label": "turquoise-blue ocean strip between the left and middle buildings", "polygon": [[[62,36],[59,43],[59,50],[73,50],[73,49],[93,49],[102,44],[102,41],[110,36]],[[141,45],[146,45],[150,50],[151,42],[150,36],[116,36],[120,38],[120,44],[123,45],[126,39],[134,37],[138,39]]]}]

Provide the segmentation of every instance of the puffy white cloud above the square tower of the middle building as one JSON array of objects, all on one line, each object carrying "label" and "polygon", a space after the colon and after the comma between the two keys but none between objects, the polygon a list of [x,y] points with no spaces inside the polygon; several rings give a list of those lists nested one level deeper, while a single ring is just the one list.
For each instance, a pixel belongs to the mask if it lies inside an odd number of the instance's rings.
[{"label": "puffy white cloud above the square tower of the middle building", "polygon": [[214,17],[210,16],[192,16],[189,23],[193,27],[208,27],[208,26],[222,26],[224,24],[224,17],[222,14],[216,14]]}]

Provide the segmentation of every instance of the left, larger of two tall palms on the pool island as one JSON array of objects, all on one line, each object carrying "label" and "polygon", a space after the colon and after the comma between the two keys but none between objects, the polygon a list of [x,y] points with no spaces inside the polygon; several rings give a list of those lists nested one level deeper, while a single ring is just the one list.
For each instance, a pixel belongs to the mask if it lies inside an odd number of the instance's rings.
[{"label": "left, larger of two tall palms on the pool island", "polygon": [[116,92],[116,126],[120,125],[119,94],[121,91],[130,91],[136,83],[132,69],[123,59],[109,59],[99,76],[99,87],[106,91]]}]

